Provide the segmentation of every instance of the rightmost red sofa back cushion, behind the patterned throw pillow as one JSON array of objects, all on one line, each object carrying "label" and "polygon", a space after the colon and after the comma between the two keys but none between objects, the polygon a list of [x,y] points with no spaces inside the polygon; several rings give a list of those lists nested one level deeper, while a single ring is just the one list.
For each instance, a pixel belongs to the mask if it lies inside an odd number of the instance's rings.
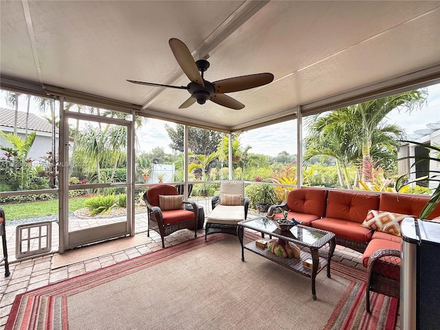
[{"label": "rightmost red sofa back cushion, behind the patterned throw pillow", "polygon": [[[419,217],[423,206],[429,201],[428,196],[415,196],[408,194],[382,193],[380,195],[379,209],[382,211],[397,212]],[[377,210],[377,209],[375,209]],[[428,219],[440,216],[440,204],[432,211]]]}]

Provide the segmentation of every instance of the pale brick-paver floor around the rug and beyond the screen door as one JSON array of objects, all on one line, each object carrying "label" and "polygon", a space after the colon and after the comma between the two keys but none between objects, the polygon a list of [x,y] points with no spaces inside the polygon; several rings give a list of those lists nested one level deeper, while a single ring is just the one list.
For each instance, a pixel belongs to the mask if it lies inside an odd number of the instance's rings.
[{"label": "pale brick-paver floor around the rug and beyond the screen door", "polygon": [[[205,212],[207,214],[207,212]],[[248,218],[258,217],[258,214],[248,214]],[[87,221],[82,223],[76,223],[74,225],[86,225]],[[90,223],[89,223],[90,225]],[[146,235],[146,213],[135,215],[135,232],[140,235]],[[58,247],[58,225],[54,223],[52,226],[52,250],[56,250]],[[198,230],[197,236],[203,236],[204,231]],[[4,277],[4,267],[0,265],[0,330],[5,327],[6,320],[14,302],[15,296],[21,294],[30,289],[35,289],[61,281],[65,278],[71,278],[86,272],[97,270],[101,267],[113,265],[126,259],[132,259],[136,256],[146,254],[162,248],[162,242],[159,234],[151,231],[148,243],[114,252],[111,254],[102,250],[101,256],[75,263],[73,265],[67,265],[52,270],[52,256],[53,254],[47,254],[45,256],[36,256],[27,260],[15,260],[15,227],[6,227],[6,235],[8,237],[8,256],[10,256],[10,276]],[[184,241],[194,239],[194,232],[191,230],[180,230],[165,238],[166,246],[175,245]],[[209,238],[208,238],[209,239]],[[344,248],[340,245],[336,245],[336,250],[333,254],[333,260],[341,261],[347,265],[353,267],[360,267],[364,269],[360,260],[361,254],[351,249]],[[397,330],[399,330],[399,319],[397,320]]]}]

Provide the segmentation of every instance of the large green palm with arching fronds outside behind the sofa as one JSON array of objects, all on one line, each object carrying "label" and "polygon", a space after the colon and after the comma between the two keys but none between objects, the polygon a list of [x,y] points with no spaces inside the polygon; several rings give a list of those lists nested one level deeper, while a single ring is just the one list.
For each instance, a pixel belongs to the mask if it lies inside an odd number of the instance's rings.
[{"label": "large green palm with arching fronds outside behind the sofa", "polygon": [[[347,188],[351,188],[347,166],[357,164],[362,181],[371,183],[373,163],[384,168],[393,164],[403,134],[399,126],[384,122],[386,115],[394,109],[412,111],[425,100],[426,91],[407,91],[316,115],[309,120],[304,159],[334,157],[340,185]],[[357,186],[357,177],[353,185]]]}]

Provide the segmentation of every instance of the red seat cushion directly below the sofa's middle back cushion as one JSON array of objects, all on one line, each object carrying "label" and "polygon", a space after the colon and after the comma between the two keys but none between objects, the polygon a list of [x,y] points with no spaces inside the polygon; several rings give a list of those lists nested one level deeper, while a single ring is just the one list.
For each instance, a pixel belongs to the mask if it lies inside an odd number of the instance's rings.
[{"label": "red seat cushion directly below the sofa's middle back cushion", "polygon": [[336,236],[351,239],[352,241],[369,242],[373,235],[371,229],[364,228],[357,222],[335,218],[314,220],[311,222],[311,226],[313,228],[328,230],[336,234]]}]

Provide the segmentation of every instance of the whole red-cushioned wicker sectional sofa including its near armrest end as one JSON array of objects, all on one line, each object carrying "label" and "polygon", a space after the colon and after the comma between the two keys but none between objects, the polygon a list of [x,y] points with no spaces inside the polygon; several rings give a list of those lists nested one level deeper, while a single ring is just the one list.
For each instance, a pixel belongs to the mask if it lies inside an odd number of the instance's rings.
[{"label": "whole red-cushioned wicker sectional sofa including its near armrest end", "polygon": [[[326,190],[300,188],[289,192],[287,201],[271,206],[289,210],[288,217],[303,221],[303,225],[328,230],[336,234],[336,243],[362,253],[367,268],[366,309],[370,311],[370,291],[399,298],[401,237],[363,227],[370,210],[388,211],[418,217],[428,196],[404,195],[389,192],[369,193],[356,190]],[[440,206],[428,219],[440,216]]]}]

